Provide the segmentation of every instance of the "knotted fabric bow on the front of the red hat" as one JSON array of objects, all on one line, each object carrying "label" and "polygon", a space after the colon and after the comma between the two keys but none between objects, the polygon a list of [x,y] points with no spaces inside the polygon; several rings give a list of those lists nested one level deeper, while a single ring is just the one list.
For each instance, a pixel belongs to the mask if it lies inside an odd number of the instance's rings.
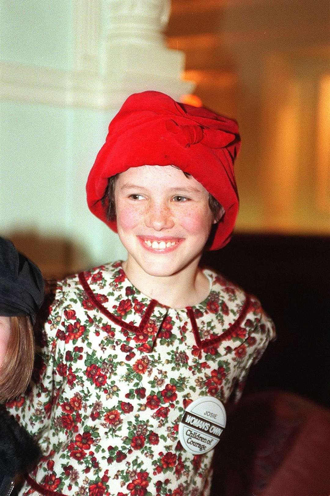
[{"label": "knotted fabric bow on the front of the red hat", "polygon": [[210,148],[223,148],[235,139],[235,134],[221,129],[208,129],[200,125],[180,125],[172,119],[165,122],[166,129],[175,135],[176,141],[188,148],[202,142]]}]

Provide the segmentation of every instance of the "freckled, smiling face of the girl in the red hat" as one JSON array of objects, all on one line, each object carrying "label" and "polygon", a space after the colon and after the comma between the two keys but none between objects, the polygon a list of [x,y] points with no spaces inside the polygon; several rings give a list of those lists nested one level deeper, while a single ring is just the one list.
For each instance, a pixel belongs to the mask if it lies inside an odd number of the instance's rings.
[{"label": "freckled, smiling face of the girl in the red hat", "polygon": [[114,191],[120,241],[147,274],[169,276],[199,261],[216,221],[209,193],[172,166],[133,167]]}]

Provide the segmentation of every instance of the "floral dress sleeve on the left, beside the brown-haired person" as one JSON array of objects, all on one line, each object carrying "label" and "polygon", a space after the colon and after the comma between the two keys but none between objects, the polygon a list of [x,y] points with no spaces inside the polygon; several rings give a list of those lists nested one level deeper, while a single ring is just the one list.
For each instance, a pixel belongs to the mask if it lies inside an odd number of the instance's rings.
[{"label": "floral dress sleeve on the left, beside the brown-haired person", "polygon": [[[61,286],[53,287],[37,319],[35,365],[30,385],[20,398],[6,404],[8,413],[36,439],[49,429],[53,407],[63,386],[64,377],[55,373],[58,356],[64,353],[63,341],[56,338],[63,302]],[[47,450],[46,446],[41,448]]]}]

